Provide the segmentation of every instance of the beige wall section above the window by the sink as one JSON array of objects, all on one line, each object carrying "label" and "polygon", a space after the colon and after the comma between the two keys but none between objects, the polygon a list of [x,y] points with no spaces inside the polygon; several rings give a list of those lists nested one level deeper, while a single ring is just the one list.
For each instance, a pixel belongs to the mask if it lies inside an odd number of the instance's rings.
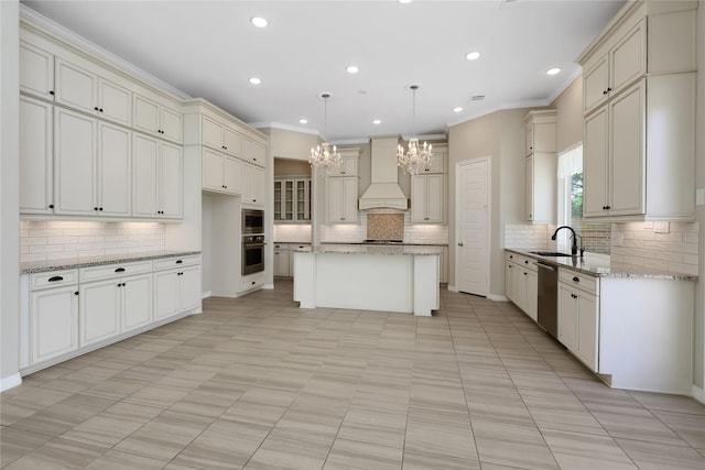
[{"label": "beige wall section above the window by the sink", "polygon": [[583,76],[577,77],[551,103],[556,110],[555,150],[563,152],[583,142]]}]

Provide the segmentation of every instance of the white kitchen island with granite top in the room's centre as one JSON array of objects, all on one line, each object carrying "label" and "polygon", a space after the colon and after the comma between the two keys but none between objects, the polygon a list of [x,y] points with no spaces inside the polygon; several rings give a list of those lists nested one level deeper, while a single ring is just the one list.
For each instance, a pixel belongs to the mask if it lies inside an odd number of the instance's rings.
[{"label": "white kitchen island with granite top in the room's centre", "polygon": [[294,254],[301,308],[431,316],[441,306],[437,247],[324,244]]}]

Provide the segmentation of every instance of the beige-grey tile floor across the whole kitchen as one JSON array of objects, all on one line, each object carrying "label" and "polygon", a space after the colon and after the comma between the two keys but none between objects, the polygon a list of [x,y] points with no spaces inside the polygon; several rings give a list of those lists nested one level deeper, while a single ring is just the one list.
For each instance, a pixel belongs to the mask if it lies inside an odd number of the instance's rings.
[{"label": "beige-grey tile floor across the whole kitchen", "polygon": [[24,378],[3,469],[705,469],[705,406],[610,390],[511,304],[301,310],[291,283]]}]

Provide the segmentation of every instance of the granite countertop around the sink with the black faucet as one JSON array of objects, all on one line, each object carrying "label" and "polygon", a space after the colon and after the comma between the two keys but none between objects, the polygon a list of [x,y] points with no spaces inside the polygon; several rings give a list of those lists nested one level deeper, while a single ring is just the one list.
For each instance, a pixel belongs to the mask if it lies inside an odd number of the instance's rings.
[{"label": "granite countertop around the sink with the black faucet", "polygon": [[586,252],[583,258],[542,256],[521,249],[507,248],[506,250],[517,254],[521,254],[523,256],[533,258],[546,264],[552,264],[558,267],[567,267],[570,270],[597,277],[654,278],[674,281],[697,280],[696,275],[671,272],[665,269],[659,270],[647,266],[612,262],[608,254]]}]

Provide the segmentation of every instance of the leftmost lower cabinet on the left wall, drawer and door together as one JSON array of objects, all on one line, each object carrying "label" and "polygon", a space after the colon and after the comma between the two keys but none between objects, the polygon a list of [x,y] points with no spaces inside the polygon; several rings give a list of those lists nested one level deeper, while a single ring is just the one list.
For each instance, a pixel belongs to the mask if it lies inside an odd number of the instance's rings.
[{"label": "leftmost lower cabinet on the left wall, drawer and door together", "polygon": [[78,350],[78,272],[30,275],[30,364]]}]

